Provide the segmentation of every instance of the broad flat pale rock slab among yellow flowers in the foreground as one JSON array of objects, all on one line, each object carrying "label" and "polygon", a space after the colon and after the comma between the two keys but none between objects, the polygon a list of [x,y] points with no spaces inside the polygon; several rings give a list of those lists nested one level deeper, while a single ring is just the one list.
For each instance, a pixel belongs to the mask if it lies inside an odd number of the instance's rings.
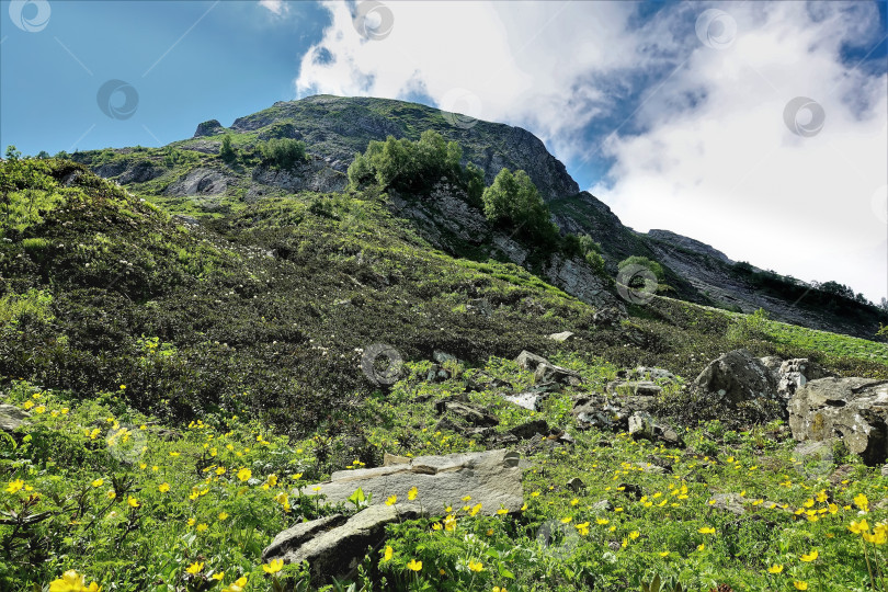
[{"label": "broad flat pale rock slab among yellow flowers in the foreground", "polygon": [[[329,481],[303,489],[303,494],[326,496],[328,502],[345,502],[357,488],[373,494],[371,504],[383,504],[397,496],[398,508],[407,502],[407,492],[415,487],[413,501],[426,511],[442,512],[447,505],[463,506],[471,496],[471,505],[481,504],[480,513],[494,515],[500,508],[517,512],[524,504],[520,455],[505,449],[479,453],[418,456],[409,463],[369,469],[340,470]],[[319,490],[315,490],[319,487]]]}]

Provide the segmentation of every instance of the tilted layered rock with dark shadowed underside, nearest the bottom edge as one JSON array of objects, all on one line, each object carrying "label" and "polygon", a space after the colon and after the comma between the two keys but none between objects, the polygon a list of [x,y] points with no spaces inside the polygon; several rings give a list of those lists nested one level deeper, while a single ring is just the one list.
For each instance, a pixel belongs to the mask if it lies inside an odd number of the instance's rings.
[{"label": "tilted layered rock with dark shadowed underside, nearest the bottom edge", "polygon": [[420,512],[413,504],[373,505],[350,519],[335,514],[298,523],[275,536],[262,559],[308,561],[312,581],[328,583],[353,574],[367,547],[376,548],[385,540],[387,524],[415,519]]}]

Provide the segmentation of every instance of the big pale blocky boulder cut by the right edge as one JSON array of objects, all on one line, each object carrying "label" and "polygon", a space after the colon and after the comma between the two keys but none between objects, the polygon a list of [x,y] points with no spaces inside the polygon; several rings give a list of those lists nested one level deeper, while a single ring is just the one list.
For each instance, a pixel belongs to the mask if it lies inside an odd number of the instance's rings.
[{"label": "big pale blocky boulder cut by the right edge", "polygon": [[888,457],[888,380],[820,378],[801,386],[789,400],[793,437],[841,437],[849,452],[868,465]]}]

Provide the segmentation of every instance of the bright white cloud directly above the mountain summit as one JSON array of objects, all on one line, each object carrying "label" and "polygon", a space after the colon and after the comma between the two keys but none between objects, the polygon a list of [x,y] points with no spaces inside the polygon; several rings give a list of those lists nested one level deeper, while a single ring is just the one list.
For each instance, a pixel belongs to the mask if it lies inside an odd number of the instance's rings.
[{"label": "bright white cloud directly above the mountain summit", "polygon": [[[362,37],[344,2],[325,4],[332,23],[308,52],[297,95],[316,92],[403,99],[421,89],[439,106],[456,89],[476,95],[469,115],[520,124],[562,157],[607,98],[583,77],[631,62],[635,38],[621,35],[622,3],[388,2],[394,26]],[[332,61],[318,59],[331,55]]]}]

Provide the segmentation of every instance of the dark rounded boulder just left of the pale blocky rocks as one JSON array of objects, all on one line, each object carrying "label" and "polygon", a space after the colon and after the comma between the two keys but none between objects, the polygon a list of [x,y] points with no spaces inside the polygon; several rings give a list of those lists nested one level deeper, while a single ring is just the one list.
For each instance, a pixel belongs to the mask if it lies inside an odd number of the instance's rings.
[{"label": "dark rounded boulder just left of the pale blocky rocks", "polygon": [[694,383],[713,396],[714,402],[728,406],[777,397],[776,378],[747,350],[735,350],[714,360]]}]

